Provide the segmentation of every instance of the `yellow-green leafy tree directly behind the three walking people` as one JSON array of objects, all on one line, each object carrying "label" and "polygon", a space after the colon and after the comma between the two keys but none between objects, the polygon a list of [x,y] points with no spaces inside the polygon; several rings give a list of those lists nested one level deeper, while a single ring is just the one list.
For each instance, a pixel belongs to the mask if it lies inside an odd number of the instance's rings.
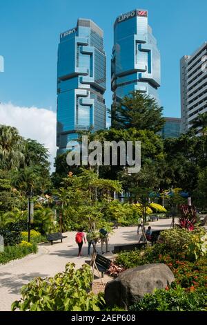
[{"label": "yellow-green leafy tree directly behind the three walking people", "polygon": [[103,212],[114,191],[121,192],[118,181],[99,178],[92,170],[82,169],[78,176],[65,178],[63,187],[55,192],[59,198],[62,229],[83,227],[88,230],[106,223]]}]

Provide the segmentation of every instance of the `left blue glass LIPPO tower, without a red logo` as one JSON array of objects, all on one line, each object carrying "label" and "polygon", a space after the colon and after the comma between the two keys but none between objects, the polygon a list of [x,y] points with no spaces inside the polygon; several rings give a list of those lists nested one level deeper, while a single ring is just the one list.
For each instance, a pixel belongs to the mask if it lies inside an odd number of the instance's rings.
[{"label": "left blue glass LIPPO tower, without a red logo", "polygon": [[78,19],[75,28],[61,33],[58,48],[58,154],[80,130],[106,128],[105,91],[103,31],[90,19]]}]

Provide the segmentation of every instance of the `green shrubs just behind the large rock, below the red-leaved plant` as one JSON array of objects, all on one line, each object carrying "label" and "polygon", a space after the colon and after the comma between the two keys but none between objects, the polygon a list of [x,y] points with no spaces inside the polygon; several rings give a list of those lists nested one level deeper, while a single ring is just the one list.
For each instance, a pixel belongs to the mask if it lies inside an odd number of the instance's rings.
[{"label": "green shrubs just behind the large rock, below the red-leaved plant", "polygon": [[[168,255],[168,259],[160,259]],[[134,250],[119,253],[116,263],[124,268],[135,268],[148,263],[172,263],[175,259],[195,261],[206,256],[206,232],[196,229],[190,232],[186,229],[164,230],[159,236],[159,243],[146,250]]]}]

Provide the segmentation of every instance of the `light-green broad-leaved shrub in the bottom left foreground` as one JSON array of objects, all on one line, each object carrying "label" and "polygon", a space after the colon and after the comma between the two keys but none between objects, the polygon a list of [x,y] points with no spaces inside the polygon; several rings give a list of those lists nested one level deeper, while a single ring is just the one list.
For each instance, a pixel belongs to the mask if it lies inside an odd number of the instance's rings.
[{"label": "light-green broad-leaved shrub in the bottom left foreground", "polygon": [[12,310],[99,311],[105,301],[90,291],[91,285],[90,266],[83,264],[75,270],[75,264],[68,263],[65,272],[46,279],[38,277],[24,286],[21,300],[14,301]]}]

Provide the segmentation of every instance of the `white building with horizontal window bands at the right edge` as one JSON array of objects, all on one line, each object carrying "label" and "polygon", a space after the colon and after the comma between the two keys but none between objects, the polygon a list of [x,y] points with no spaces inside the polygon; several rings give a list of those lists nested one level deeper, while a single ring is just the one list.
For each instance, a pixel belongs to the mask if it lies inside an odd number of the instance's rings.
[{"label": "white building with horizontal window bands at the right edge", "polygon": [[207,112],[207,42],[180,60],[181,132],[186,133],[199,113]]}]

